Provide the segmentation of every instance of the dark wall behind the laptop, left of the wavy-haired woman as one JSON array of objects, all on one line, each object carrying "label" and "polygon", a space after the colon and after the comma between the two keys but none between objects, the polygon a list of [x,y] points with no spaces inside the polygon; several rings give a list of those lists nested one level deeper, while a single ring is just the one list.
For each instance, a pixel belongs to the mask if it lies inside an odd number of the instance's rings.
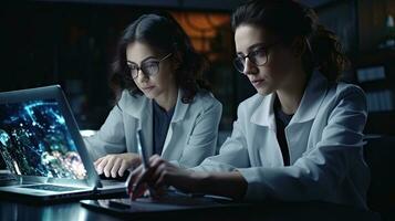
[{"label": "dark wall behind the laptop, left of the wavy-haired woman", "polygon": [[2,3],[0,91],[61,84],[82,128],[98,128],[112,106],[107,84],[117,39],[142,8]]}]

